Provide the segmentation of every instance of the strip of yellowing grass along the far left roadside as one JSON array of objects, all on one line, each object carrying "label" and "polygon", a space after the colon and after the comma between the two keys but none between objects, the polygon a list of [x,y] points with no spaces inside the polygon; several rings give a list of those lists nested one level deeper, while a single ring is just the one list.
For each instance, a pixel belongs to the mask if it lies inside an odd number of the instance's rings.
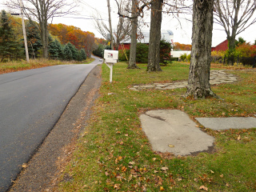
[{"label": "strip of yellowing grass along the far left roadside", "polygon": [[[87,58],[86,62],[75,62],[75,63],[90,63],[94,61],[94,58]],[[50,59],[30,59],[30,63],[27,63],[25,60],[14,61],[14,62],[0,62],[0,74],[7,74],[10,72],[18,70],[31,70],[35,68],[40,68],[44,66],[56,66],[62,64],[74,64],[74,62],[62,62],[59,60],[50,60]]]}]

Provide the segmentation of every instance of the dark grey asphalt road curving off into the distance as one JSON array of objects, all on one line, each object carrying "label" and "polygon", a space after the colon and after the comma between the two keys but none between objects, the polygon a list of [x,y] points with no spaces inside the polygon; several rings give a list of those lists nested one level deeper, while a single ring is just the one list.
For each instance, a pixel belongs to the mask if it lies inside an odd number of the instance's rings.
[{"label": "dark grey asphalt road curving off into the distance", "polygon": [[0,191],[58,122],[98,58],[87,65],[48,66],[0,75]]}]

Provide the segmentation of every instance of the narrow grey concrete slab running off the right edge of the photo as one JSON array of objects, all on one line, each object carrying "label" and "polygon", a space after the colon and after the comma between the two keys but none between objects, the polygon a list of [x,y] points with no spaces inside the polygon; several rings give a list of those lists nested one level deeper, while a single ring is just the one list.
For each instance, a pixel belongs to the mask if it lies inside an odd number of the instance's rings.
[{"label": "narrow grey concrete slab running off the right edge of the photo", "polygon": [[256,118],[195,118],[206,128],[211,130],[250,129],[256,128]]}]

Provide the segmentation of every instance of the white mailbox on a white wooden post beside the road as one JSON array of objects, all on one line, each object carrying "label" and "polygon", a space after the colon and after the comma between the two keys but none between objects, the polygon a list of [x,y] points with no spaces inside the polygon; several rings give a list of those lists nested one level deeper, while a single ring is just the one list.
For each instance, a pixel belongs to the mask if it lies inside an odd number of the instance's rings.
[{"label": "white mailbox on a white wooden post beside the road", "polygon": [[104,60],[110,68],[110,82],[112,82],[113,66],[118,62],[118,50],[104,50]]}]

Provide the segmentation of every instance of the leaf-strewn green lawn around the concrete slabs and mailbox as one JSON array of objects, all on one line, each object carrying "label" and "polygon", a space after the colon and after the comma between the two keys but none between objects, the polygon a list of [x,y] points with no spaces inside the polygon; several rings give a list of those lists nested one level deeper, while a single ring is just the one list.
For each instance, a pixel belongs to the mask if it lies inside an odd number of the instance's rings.
[{"label": "leaf-strewn green lawn around the concrete slabs and mailbox", "polygon": [[256,70],[213,65],[214,70],[235,74],[238,82],[212,86],[222,99],[194,100],[181,97],[186,89],[129,90],[134,85],[184,81],[187,63],[174,62],[150,74],[145,64],[138,66],[142,70],[127,70],[126,63],[119,62],[110,83],[109,69],[102,65],[100,97],[56,190],[255,191],[256,125],[222,131],[199,127],[214,136],[214,152],[176,157],[151,150],[138,117],[156,109],[182,110],[192,119],[254,116]]}]

